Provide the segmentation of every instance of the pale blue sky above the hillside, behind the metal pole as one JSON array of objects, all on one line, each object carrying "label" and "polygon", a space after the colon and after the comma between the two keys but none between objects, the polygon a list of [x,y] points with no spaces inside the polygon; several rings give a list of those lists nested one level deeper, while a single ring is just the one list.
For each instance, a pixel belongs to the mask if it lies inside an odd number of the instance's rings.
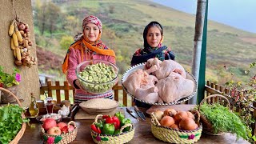
[{"label": "pale blue sky above the hillside, behind the metal pole", "polygon": [[[197,0],[152,0],[190,14],[196,14]],[[256,0],[208,0],[208,18],[256,33]]]}]

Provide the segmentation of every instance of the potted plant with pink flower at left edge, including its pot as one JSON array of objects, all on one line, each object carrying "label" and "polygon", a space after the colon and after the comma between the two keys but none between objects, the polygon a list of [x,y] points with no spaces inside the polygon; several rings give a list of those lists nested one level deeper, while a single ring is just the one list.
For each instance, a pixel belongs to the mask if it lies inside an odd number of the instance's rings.
[{"label": "potted plant with pink flower at left edge, including its pot", "polygon": [[[0,87],[10,90],[12,93],[17,93],[17,85],[21,82],[21,75],[19,70],[14,67],[14,72],[8,74],[3,70],[3,66],[0,66]],[[9,94],[0,93],[2,103],[12,103],[16,102],[15,98],[10,97]]]}]

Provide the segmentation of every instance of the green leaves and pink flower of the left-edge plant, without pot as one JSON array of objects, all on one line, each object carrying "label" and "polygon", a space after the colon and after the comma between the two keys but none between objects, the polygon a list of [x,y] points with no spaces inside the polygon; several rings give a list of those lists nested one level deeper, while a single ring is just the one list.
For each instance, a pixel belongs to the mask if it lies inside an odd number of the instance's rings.
[{"label": "green leaves and pink flower of the left-edge plant, without pot", "polygon": [[3,66],[0,66],[0,83],[4,86],[10,87],[19,85],[19,82],[21,82],[21,75],[16,67],[14,67],[14,72],[12,74],[7,74],[3,71]]}]

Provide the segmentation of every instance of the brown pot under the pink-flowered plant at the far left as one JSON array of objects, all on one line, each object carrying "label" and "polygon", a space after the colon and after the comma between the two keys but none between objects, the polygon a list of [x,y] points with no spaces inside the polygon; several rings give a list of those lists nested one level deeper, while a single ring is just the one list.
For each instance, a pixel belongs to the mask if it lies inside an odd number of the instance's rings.
[{"label": "brown pot under the pink-flowered plant at the far left", "polygon": [[[11,93],[13,93],[14,95],[17,95],[18,86],[16,85],[10,86],[10,87],[3,86],[3,88],[5,88],[6,90],[10,90]],[[1,93],[1,103],[6,104],[6,103],[14,103],[14,102],[16,102],[16,99],[12,97],[10,94],[6,92]]]}]

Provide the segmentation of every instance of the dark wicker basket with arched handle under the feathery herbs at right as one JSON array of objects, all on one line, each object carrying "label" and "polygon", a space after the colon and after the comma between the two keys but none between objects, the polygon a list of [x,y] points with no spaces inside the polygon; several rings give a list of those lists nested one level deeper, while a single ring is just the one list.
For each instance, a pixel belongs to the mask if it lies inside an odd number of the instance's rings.
[{"label": "dark wicker basket with arched handle under the feathery herbs at right", "polygon": [[[202,100],[202,102],[200,102],[200,104],[198,106],[199,113],[200,113],[200,106],[202,106],[202,104],[204,102],[206,102],[206,100],[209,99],[209,98],[218,98],[218,102],[221,102],[222,104],[226,104],[228,107],[230,107],[230,102],[229,102],[229,100],[226,97],[224,97],[224,96],[222,96],[220,94],[212,94],[212,95],[204,98]],[[214,127],[211,125],[211,123],[207,120],[207,118],[203,114],[200,113],[200,115],[201,115],[200,116],[200,119],[201,119],[200,121],[202,122],[202,132],[203,133],[210,134],[210,135],[222,135],[222,134],[225,134],[222,131],[218,131],[217,133],[214,133]]]}]

